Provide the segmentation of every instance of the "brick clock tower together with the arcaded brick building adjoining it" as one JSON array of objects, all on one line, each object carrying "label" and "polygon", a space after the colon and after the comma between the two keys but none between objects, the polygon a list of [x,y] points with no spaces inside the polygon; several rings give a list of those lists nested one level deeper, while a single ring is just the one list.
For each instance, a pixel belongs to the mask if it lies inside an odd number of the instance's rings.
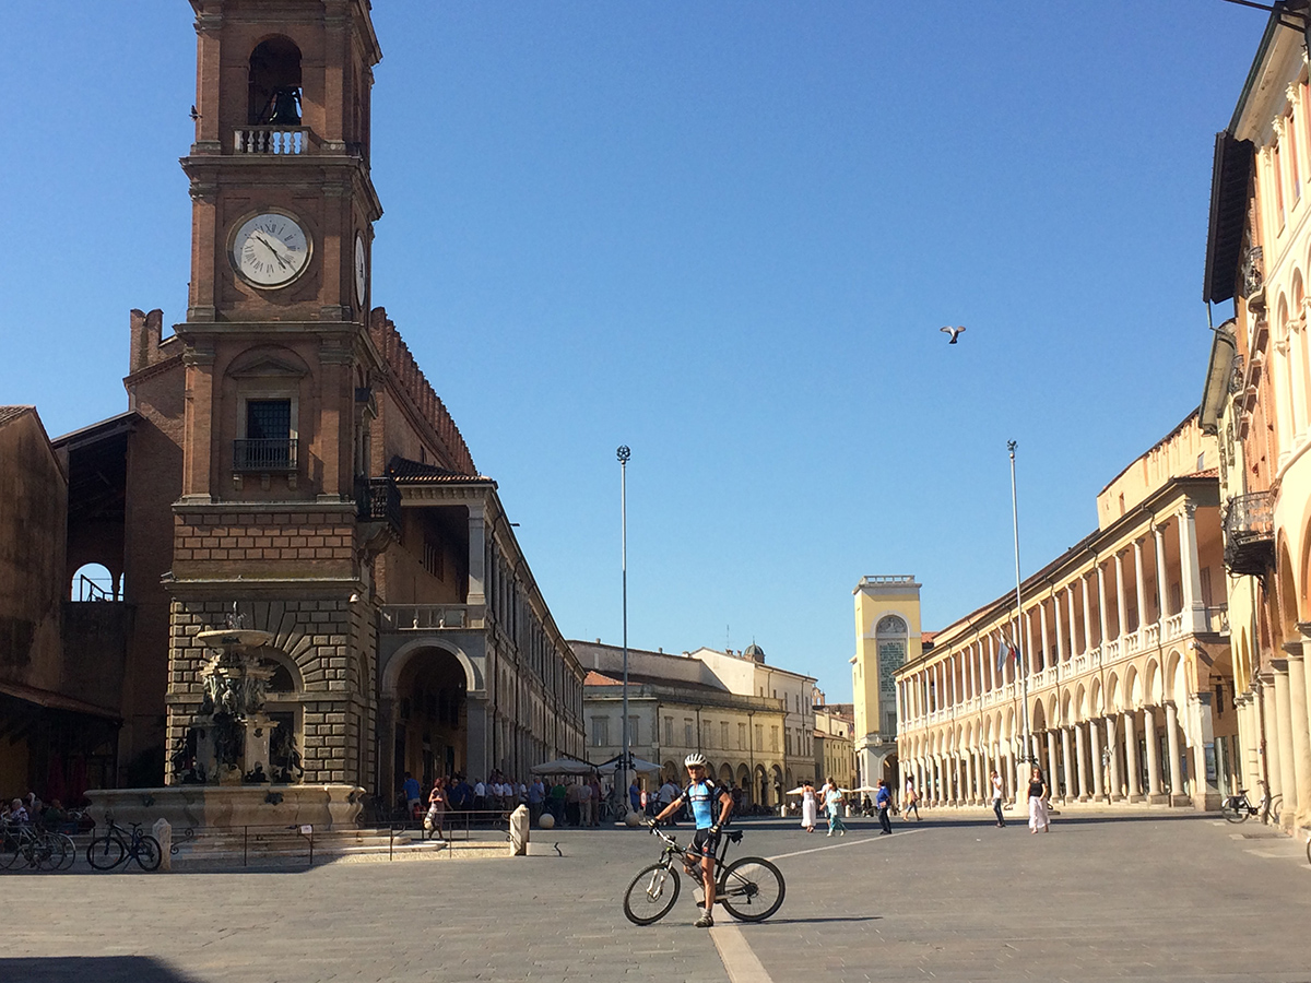
[{"label": "brick clock tower together with the arcaded brick building adjoining it", "polygon": [[52,444],[94,469],[69,471],[69,562],[131,615],[105,784],[180,779],[197,634],[231,624],[273,634],[269,773],[389,802],[405,771],[581,754],[583,672],[497,485],[372,307],[367,1],[193,8],[186,320],[134,311],[127,413]]}]

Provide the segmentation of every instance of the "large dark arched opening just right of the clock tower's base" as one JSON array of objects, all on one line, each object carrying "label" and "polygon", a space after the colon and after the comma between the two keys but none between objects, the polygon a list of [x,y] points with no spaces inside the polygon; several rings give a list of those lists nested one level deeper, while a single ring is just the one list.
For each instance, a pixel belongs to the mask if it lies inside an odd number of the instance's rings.
[{"label": "large dark arched opening just right of the clock tower's base", "polygon": [[413,653],[396,678],[395,708],[397,785],[405,772],[426,789],[439,775],[468,771],[468,680],[455,654]]}]

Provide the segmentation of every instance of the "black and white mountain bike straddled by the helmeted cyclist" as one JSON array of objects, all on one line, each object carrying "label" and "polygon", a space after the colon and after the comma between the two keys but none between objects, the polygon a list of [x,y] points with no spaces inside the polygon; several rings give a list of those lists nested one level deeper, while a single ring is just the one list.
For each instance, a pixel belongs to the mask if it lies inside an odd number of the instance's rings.
[{"label": "black and white mountain bike straddled by the helmeted cyclist", "polygon": [[[665,843],[661,857],[642,868],[624,891],[624,915],[637,925],[659,921],[674,907],[682,887],[678,872],[687,857],[687,851],[678,845],[678,840],[661,832],[654,824],[652,835]],[[739,921],[763,921],[783,904],[787,885],[779,868],[764,857],[738,857],[732,864],[725,864],[729,844],[741,841],[741,830],[730,830],[720,836],[714,857],[714,902]],[[688,877],[700,885],[700,868],[695,876],[688,873]]]}]

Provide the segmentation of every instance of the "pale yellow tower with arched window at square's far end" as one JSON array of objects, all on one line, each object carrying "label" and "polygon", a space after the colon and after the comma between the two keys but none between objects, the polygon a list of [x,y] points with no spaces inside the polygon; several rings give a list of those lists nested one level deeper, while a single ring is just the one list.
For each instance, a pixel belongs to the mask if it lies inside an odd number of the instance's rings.
[{"label": "pale yellow tower with arched window at square's far end", "polygon": [[920,657],[919,585],[914,577],[861,577],[856,598],[856,780],[897,788],[897,688],[893,674]]}]

